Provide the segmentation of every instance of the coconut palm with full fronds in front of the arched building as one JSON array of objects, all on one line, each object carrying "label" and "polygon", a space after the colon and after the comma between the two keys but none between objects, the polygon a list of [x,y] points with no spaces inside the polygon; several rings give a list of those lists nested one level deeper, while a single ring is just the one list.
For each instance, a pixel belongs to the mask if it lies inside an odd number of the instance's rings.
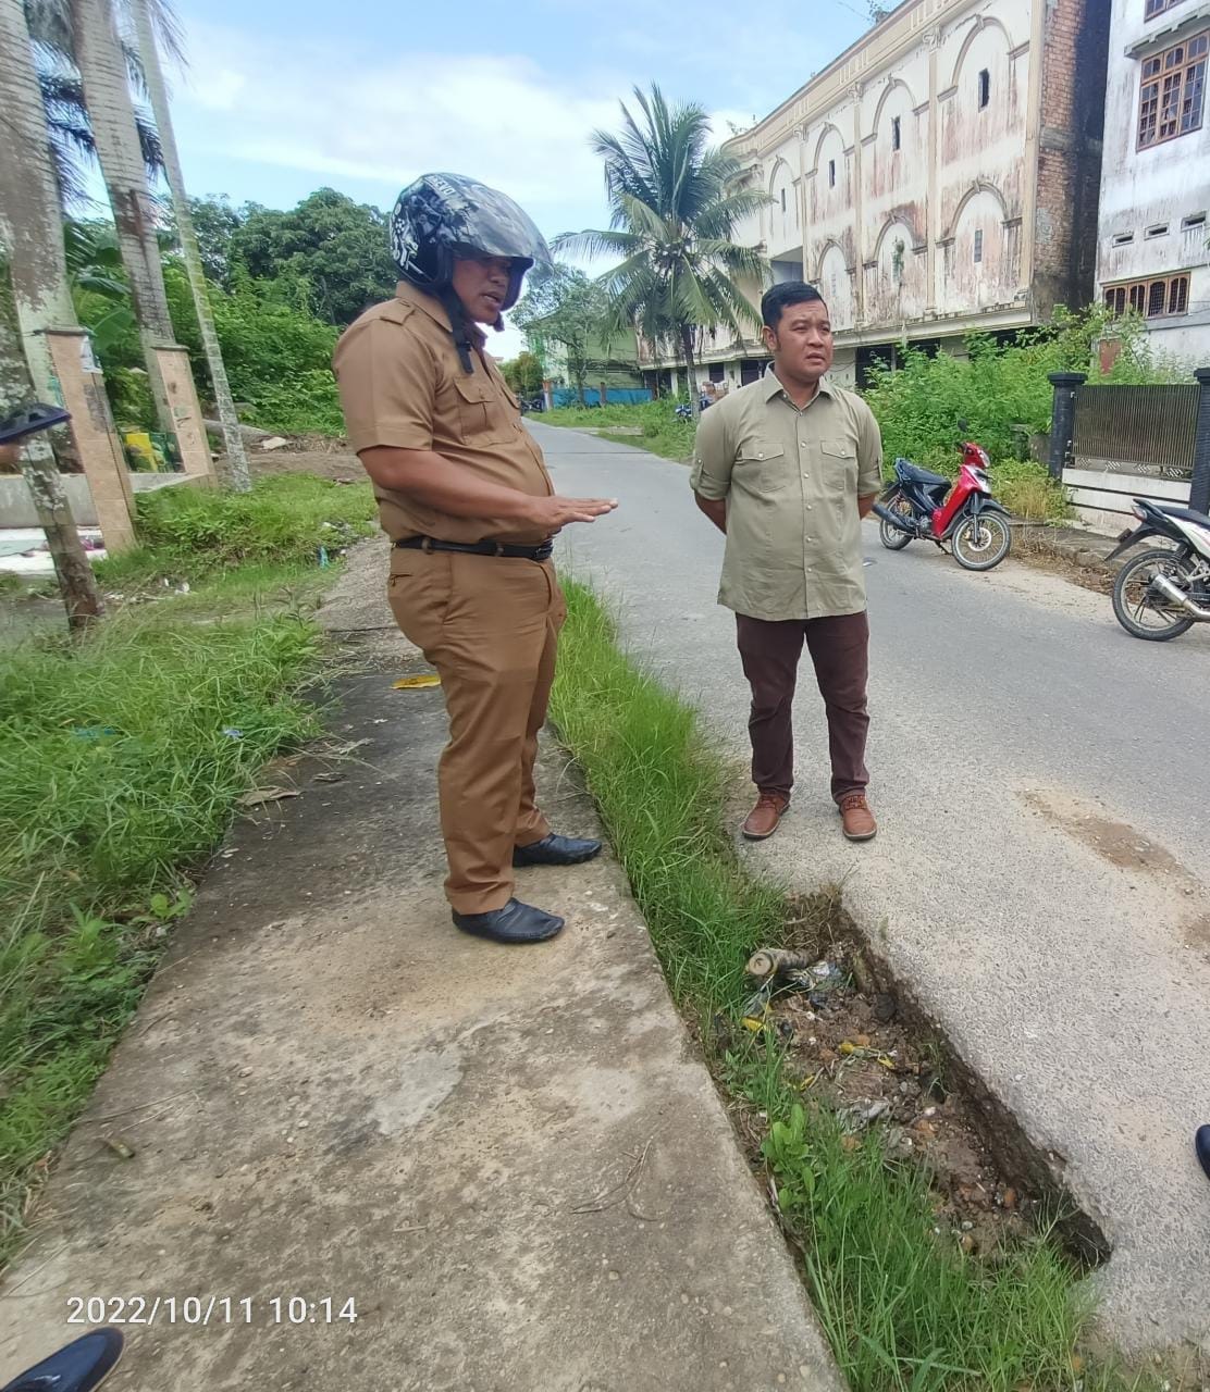
[{"label": "coconut palm with full fronds in front of the arched building", "polygon": [[608,231],[569,234],[556,245],[621,256],[602,277],[611,327],[638,329],[653,344],[671,340],[679,347],[696,415],[696,330],[725,327],[742,341],[745,326],[760,323],[744,285],[762,285],[769,263],[731,237],[769,198],[735,188],[739,166],[712,146],[703,107],[670,107],[654,85],[650,95],[635,88],[635,100],[642,124],[622,103],[621,134],[592,136],[604,160]]}]

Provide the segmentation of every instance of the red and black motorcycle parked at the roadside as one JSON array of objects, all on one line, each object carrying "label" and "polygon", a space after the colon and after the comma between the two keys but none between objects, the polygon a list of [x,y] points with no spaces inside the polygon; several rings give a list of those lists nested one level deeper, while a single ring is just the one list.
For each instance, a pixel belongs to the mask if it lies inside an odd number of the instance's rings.
[{"label": "red and black motorcycle parked at the roadside", "polygon": [[990,571],[1012,546],[1008,509],[991,497],[987,451],[973,440],[959,448],[962,468],[952,486],[940,473],[895,459],[895,477],[874,504],[879,537],[888,551],[902,551],[913,540],[938,547],[948,541],[961,567]]}]

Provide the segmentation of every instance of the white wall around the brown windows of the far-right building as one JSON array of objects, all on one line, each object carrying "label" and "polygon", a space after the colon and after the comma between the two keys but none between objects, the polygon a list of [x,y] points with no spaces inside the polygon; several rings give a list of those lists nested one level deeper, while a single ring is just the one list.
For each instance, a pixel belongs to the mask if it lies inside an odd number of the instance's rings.
[{"label": "white wall around the brown windows of the far-right building", "polygon": [[[1153,287],[1188,277],[1184,312],[1147,319],[1163,354],[1210,362],[1210,95],[1202,81],[1197,124],[1171,139],[1139,142],[1140,86],[1149,58],[1210,32],[1210,10],[1179,0],[1146,18],[1143,0],[1113,0],[1106,88],[1104,159],[1097,227],[1097,292],[1142,284],[1145,312]],[[1196,113],[1195,113],[1196,114]]]}]

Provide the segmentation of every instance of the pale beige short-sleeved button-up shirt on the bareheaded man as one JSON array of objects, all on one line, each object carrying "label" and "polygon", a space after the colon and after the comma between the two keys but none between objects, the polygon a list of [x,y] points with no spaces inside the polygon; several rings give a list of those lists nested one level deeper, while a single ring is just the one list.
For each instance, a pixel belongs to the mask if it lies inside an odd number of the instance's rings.
[{"label": "pale beige short-sleeved button-up shirt on the bareheaded man", "polygon": [[703,413],[691,482],[727,503],[720,604],[764,619],[865,610],[858,498],[883,486],[883,440],[861,397],[823,379],[799,411],[766,372]]}]

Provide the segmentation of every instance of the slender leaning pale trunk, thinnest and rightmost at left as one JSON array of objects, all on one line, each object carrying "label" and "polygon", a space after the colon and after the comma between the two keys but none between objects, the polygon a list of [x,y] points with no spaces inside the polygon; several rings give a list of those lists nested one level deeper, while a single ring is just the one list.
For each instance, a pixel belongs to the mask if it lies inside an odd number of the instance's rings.
[{"label": "slender leaning pale trunk, thinnest and rightmost at left", "polygon": [[189,216],[189,199],[185,193],[185,178],[181,174],[181,159],[177,153],[177,138],[173,134],[173,114],[168,107],[168,92],[164,85],[164,74],[160,67],[160,53],[156,47],[156,36],[152,31],[152,17],[148,10],[148,0],[132,0],[131,8],[138,29],[139,56],[143,60],[143,75],[148,81],[148,90],[152,96],[152,111],[156,118],[156,129],[160,135],[160,148],[164,155],[164,173],[168,178],[168,188],[173,193],[173,207],[177,213],[177,234],[181,239],[181,255],[185,259],[185,270],[189,276],[189,288],[194,292],[194,308],[198,312],[198,324],[202,330],[202,345],[206,349],[206,363],[210,367],[210,383],[214,388],[214,406],[219,411],[219,420],[223,425],[223,443],[227,450],[227,482],[237,493],[246,493],[252,487],[248,475],[248,457],[244,452],[244,437],[239,433],[239,418],[235,415],[235,402],[231,398],[231,387],[227,383],[227,369],[223,366],[223,354],[219,348],[219,335],[214,331],[214,315],[210,310],[210,296],[206,292],[206,274],[202,270],[202,256],[198,251],[198,238],[194,234],[194,220]]}]

